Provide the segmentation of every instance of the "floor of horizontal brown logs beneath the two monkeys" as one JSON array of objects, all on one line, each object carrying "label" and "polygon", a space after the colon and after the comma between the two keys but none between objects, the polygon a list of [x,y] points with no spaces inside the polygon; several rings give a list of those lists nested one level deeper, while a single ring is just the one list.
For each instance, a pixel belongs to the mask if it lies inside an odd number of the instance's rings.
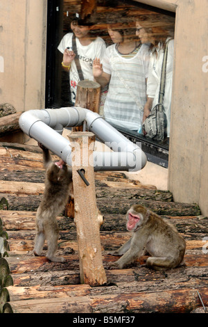
[{"label": "floor of horizontal brown logs beneath the two monkeys", "polygon": [[[105,217],[101,247],[107,283],[102,287],[82,285],[73,218],[58,217],[58,253],[66,263],[33,256],[35,212],[44,190],[40,149],[0,145],[0,200],[8,201],[8,210],[5,206],[0,211],[0,230],[6,232],[9,244],[9,257],[1,257],[0,262],[6,267],[0,269],[1,312],[182,313],[202,306],[198,294],[208,305],[208,218],[201,216],[197,205],[175,203],[170,192],[128,180],[124,173],[95,173],[97,205]],[[150,207],[175,225],[187,241],[184,266],[165,273],[153,271],[141,266],[146,260],[141,257],[127,269],[107,269],[118,259],[108,255],[109,250],[130,238],[125,212],[132,203]]]}]

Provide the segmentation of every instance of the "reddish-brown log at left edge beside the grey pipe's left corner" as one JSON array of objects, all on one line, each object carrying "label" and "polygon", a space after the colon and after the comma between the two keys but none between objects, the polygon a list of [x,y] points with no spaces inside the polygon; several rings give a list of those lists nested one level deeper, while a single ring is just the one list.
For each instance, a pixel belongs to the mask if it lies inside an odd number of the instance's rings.
[{"label": "reddish-brown log at left edge beside the grey pipe's left corner", "polygon": [[0,137],[14,131],[20,131],[19,117],[21,116],[21,113],[22,112],[6,115],[0,119]]}]

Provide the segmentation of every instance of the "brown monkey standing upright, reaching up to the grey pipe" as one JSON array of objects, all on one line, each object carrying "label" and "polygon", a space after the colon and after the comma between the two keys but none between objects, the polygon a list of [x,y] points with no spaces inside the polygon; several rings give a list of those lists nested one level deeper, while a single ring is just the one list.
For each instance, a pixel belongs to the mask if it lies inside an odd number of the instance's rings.
[{"label": "brown monkey standing upright, reaching up to the grey pipe", "polygon": [[59,228],[56,216],[62,212],[69,198],[72,185],[72,171],[64,161],[52,161],[49,150],[38,143],[43,150],[46,168],[45,189],[36,214],[36,237],[34,255],[41,255],[44,241],[47,241],[46,257],[54,262],[64,262],[64,257],[55,256],[58,248]]}]

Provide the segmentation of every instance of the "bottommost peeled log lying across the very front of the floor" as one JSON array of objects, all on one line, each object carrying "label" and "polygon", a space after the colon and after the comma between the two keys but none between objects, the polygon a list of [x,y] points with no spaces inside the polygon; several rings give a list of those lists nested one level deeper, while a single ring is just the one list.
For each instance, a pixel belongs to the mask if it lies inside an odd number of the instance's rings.
[{"label": "bottommost peeled log lying across the very front of the floor", "polygon": [[[208,304],[208,290],[200,294]],[[37,300],[11,301],[14,312],[19,313],[188,313],[200,305],[196,289],[164,290],[162,292],[107,294],[103,296],[69,296]]]}]

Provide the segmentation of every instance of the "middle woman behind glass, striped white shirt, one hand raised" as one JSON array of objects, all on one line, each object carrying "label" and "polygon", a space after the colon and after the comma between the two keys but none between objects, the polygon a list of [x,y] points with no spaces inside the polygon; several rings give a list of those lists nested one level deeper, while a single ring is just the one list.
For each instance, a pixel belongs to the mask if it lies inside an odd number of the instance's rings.
[{"label": "middle woman behind glass, striped white shirt, one hand raised", "polygon": [[149,51],[135,38],[135,29],[109,26],[114,42],[105,50],[103,61],[93,64],[94,79],[102,87],[109,83],[104,105],[107,122],[138,131],[146,104]]}]

